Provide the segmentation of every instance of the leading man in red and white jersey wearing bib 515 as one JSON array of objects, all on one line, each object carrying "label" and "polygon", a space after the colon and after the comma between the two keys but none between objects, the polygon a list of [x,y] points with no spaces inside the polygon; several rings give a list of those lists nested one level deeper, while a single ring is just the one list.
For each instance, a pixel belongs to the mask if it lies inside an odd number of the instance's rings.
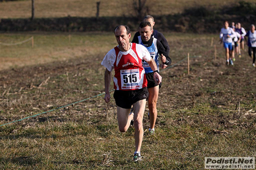
[{"label": "leading man in red and white jersey wearing bib 515", "polygon": [[[162,77],[158,74],[157,65],[150,57],[148,50],[136,43],[130,43],[131,33],[128,26],[117,26],[114,30],[118,45],[110,50],[101,65],[105,71],[105,102],[110,102],[110,79],[114,69],[114,98],[117,105],[119,130],[126,132],[133,119],[135,127],[135,153],[133,160],[141,159],[141,145],[144,134],[142,119],[148,97],[145,70],[142,59],[154,70],[153,79],[160,84]],[[133,114],[129,114],[133,105]]]}]

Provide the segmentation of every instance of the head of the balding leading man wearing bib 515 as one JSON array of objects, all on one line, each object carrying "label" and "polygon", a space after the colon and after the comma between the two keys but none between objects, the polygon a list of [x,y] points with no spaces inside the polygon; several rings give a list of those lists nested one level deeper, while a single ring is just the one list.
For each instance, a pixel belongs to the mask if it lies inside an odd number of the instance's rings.
[{"label": "head of the balding leading man wearing bib 515", "polygon": [[117,43],[121,50],[128,50],[130,38],[131,34],[129,33],[127,35],[126,28],[124,26],[121,26],[119,27],[119,29],[115,30],[115,39],[117,40]]}]

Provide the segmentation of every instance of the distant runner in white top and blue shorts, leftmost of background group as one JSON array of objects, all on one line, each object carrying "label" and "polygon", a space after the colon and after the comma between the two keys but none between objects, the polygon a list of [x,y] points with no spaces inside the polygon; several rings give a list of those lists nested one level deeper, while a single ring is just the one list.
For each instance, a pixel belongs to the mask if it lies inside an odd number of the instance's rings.
[{"label": "distant runner in white top and blue shorts, leftmost of background group", "polygon": [[232,56],[232,38],[235,37],[235,31],[228,27],[228,21],[224,22],[224,27],[221,28],[221,32],[219,33],[219,41],[223,42],[223,47],[226,50],[226,65],[233,65],[232,59],[230,59],[230,56]]}]

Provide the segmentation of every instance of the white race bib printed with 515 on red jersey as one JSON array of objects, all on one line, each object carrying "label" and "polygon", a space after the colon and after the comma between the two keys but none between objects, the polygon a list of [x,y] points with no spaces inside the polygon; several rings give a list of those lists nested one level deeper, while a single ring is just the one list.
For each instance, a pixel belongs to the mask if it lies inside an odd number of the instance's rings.
[{"label": "white race bib printed with 515 on red jersey", "polygon": [[139,69],[121,70],[121,89],[139,89]]}]

